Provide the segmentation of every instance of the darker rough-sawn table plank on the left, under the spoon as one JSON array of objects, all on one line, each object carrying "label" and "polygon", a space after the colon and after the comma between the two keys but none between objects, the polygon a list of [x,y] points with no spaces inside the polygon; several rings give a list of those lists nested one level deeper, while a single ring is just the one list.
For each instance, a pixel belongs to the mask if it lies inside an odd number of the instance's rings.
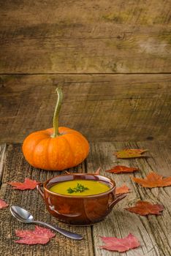
[{"label": "darker rough-sawn table plank on the left, under the spoon", "polygon": [[[72,169],[72,171],[85,172],[85,165]],[[75,255],[90,255],[93,256],[93,246],[91,238],[91,227],[71,227],[58,223],[55,218],[50,217],[50,214],[45,210],[45,204],[38,195],[37,190],[19,191],[12,189],[7,181],[23,181],[25,177],[36,179],[37,181],[45,181],[47,178],[56,176],[58,172],[36,170],[30,167],[23,158],[20,150],[20,145],[7,148],[7,161],[4,167],[3,184],[0,190],[0,197],[3,198],[9,206],[18,205],[28,209],[35,219],[53,223],[59,227],[65,228],[72,232],[77,232],[83,235],[82,241],[74,241],[56,233],[56,238],[53,238],[47,245],[21,245],[15,244],[17,240],[15,230],[33,229],[34,225],[26,225],[15,220],[9,213],[9,208],[1,210],[0,216],[0,254],[1,255],[38,255],[38,256],[75,256]]]}]

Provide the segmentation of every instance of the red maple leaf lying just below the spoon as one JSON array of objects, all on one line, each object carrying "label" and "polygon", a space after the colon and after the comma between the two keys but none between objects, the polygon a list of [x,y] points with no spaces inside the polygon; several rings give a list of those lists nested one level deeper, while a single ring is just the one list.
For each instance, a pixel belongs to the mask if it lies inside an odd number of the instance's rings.
[{"label": "red maple leaf lying just below the spoon", "polygon": [[34,230],[15,230],[15,235],[21,238],[15,241],[18,244],[47,244],[55,236],[49,229],[39,226]]}]

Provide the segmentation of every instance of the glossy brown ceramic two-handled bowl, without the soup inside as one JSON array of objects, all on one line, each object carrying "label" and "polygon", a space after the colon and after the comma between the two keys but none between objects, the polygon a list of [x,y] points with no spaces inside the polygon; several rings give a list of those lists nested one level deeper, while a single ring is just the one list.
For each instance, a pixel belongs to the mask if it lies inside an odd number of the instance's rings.
[{"label": "glossy brown ceramic two-handled bowl, without the soup inside", "polygon": [[[83,196],[61,195],[49,190],[58,182],[72,180],[101,181],[107,184],[110,189],[101,194]],[[92,173],[71,173],[56,176],[43,184],[38,184],[37,189],[45,200],[50,214],[69,225],[93,225],[104,219],[112,211],[113,206],[126,197],[125,194],[115,195],[115,182],[112,179]]]}]

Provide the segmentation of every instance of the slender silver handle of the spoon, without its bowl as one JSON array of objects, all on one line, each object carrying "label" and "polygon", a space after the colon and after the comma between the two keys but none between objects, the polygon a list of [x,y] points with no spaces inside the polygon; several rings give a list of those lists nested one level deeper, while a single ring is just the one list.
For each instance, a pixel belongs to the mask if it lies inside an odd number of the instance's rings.
[{"label": "slender silver handle of the spoon, without its bowl", "polygon": [[40,222],[39,220],[37,220],[37,221],[34,220],[34,221],[32,221],[32,223],[44,225],[46,227],[50,227],[53,230],[57,231],[58,233],[61,233],[62,235],[66,236],[68,238],[72,238],[72,239],[75,239],[75,240],[82,240],[83,239],[83,236],[81,236],[77,233],[72,233],[72,232],[63,230],[60,227],[56,227],[55,225],[51,225],[51,224],[48,224],[46,222]]}]

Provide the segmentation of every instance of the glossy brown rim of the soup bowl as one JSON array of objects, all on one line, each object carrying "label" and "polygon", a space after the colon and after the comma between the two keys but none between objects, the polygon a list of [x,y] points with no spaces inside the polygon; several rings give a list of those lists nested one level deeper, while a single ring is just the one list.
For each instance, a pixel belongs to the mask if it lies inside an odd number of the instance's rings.
[{"label": "glossy brown rim of the soup bowl", "polygon": [[[85,176],[85,175],[92,175],[92,176],[96,176],[96,177],[102,177],[102,178],[107,178],[110,182],[110,184],[113,185],[113,187],[111,187],[109,190],[107,190],[106,192],[102,192],[96,195],[62,195],[62,194],[58,194],[56,192],[52,192],[49,189],[47,189],[46,185],[47,183],[53,179],[53,178],[57,178],[62,177],[62,176]],[[54,176],[53,178],[49,178],[47,181],[43,182],[43,189],[45,189],[48,193],[52,194],[52,195],[58,195],[60,197],[67,197],[67,198],[92,198],[92,197],[102,197],[102,195],[107,195],[110,194],[111,192],[115,191],[115,181],[113,181],[112,178],[108,178],[106,176],[102,176],[99,174],[95,174],[95,173],[68,173],[68,174],[63,174],[63,175],[58,175],[58,176]],[[62,181],[61,181],[62,182]],[[115,194],[114,194],[115,195]]]}]

